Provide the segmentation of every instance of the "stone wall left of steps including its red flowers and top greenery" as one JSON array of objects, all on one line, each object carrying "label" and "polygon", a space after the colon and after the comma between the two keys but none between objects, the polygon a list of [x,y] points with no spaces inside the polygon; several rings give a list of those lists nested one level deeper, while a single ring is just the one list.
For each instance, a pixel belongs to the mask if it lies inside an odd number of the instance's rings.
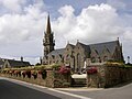
[{"label": "stone wall left of steps including its red flowers and top greenery", "polygon": [[46,87],[68,87],[70,85],[70,68],[58,64],[4,68],[1,73],[6,77],[34,82]]}]

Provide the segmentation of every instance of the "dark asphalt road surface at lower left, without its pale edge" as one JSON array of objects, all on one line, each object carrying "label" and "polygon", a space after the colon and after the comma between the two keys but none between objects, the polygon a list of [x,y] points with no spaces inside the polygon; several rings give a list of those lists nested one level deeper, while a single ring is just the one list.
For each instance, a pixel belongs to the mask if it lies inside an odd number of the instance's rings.
[{"label": "dark asphalt road surface at lower left, without its pale edge", "polygon": [[0,99],[61,99],[6,79],[0,79]]}]

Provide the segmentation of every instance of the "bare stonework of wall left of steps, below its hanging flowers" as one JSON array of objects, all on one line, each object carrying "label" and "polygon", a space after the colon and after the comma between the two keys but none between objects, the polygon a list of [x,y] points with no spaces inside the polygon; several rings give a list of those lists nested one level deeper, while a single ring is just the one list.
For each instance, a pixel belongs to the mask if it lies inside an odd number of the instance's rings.
[{"label": "bare stonework of wall left of steps, below its hanging flowers", "polygon": [[23,75],[14,75],[14,74],[0,74],[0,76],[19,79],[32,84],[37,84],[52,88],[61,88],[61,87],[69,87],[70,86],[70,74],[62,75],[55,69],[46,69],[46,77],[43,78],[41,74],[37,73],[37,77],[34,78],[33,75],[29,78],[28,76],[23,77]]}]

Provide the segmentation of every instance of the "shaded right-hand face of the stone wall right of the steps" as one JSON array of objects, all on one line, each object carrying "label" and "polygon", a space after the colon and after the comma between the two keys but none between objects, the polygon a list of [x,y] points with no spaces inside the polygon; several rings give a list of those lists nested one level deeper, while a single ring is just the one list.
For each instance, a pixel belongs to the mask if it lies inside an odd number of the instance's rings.
[{"label": "shaded right-hand face of the stone wall right of the steps", "polygon": [[111,87],[131,80],[132,80],[132,67],[106,66],[105,87]]}]

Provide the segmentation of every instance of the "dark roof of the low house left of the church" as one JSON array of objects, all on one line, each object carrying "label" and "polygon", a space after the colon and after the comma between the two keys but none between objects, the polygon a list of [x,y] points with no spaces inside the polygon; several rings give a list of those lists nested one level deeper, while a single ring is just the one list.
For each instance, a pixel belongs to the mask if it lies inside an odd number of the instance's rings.
[{"label": "dark roof of the low house left of the church", "polygon": [[7,59],[11,67],[18,67],[18,66],[30,66],[31,64],[29,62],[22,62],[22,61],[14,61],[14,59]]}]

